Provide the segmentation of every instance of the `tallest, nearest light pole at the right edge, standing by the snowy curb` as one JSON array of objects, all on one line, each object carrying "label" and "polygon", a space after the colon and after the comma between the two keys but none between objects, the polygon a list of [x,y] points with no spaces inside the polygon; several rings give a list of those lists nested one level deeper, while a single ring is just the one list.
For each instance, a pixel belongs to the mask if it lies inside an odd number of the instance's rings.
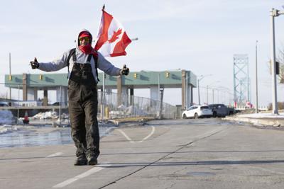
[{"label": "tallest, nearest light pole at the right edge, standing by the snowy curb", "polygon": [[271,74],[272,74],[272,113],[278,114],[277,104],[277,84],[276,84],[276,65],[275,65],[275,30],[274,17],[284,14],[283,11],[271,9]]}]

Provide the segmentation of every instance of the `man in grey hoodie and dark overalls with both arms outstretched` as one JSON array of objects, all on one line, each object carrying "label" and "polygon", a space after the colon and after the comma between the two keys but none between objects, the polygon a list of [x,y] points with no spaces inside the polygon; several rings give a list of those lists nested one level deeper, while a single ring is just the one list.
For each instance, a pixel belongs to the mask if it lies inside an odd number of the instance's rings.
[{"label": "man in grey hoodie and dark overalls with both arms outstretched", "polygon": [[[35,58],[32,69],[57,71],[68,67],[68,102],[71,135],[77,147],[75,166],[96,165],[99,156],[99,128],[97,122],[97,68],[111,76],[128,75],[129,68],[114,67],[92,48],[92,35],[82,30],[76,48],[64,52],[60,59],[39,63]],[[71,71],[70,71],[71,70]]]}]

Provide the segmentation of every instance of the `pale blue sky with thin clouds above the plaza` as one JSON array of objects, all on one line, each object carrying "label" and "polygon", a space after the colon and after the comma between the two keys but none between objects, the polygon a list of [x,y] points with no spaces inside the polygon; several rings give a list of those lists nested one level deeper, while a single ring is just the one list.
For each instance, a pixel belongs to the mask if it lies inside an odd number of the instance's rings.
[{"label": "pale blue sky with thin clouds above the plaza", "polygon": [[[251,102],[255,103],[255,51],[258,40],[258,104],[272,101],[271,8],[283,10],[280,0],[156,0],[156,1],[3,1],[0,12],[0,83],[9,74],[42,73],[32,70],[29,62],[49,62],[75,47],[82,28],[96,36],[105,10],[118,19],[129,38],[138,38],[127,47],[124,57],[108,58],[116,67],[123,64],[131,71],[165,71],[186,69],[200,80],[200,103],[207,101],[206,86],[229,88],[233,93],[233,57],[249,56]],[[275,18],[276,56],[284,48],[284,16]],[[58,73],[66,73],[62,69]],[[0,93],[7,88],[0,85]],[[278,101],[284,101],[284,84],[278,82]],[[219,95],[218,95],[219,94]],[[13,96],[16,96],[15,93]],[[137,90],[136,96],[150,96],[149,90]],[[229,96],[215,91],[214,101],[228,103]],[[181,104],[181,90],[165,89],[164,101]],[[209,90],[209,103],[213,93]],[[223,98],[223,99],[222,99]],[[228,98],[228,100],[224,100]],[[197,88],[193,101],[198,103]]]}]

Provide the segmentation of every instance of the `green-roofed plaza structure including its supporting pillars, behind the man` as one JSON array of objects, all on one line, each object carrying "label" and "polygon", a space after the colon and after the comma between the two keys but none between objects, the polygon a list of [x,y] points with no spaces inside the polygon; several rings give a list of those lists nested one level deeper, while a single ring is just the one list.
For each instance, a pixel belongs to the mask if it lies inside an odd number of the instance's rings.
[{"label": "green-roofed plaza structure including its supporting pillars, behind the man", "polygon": [[[103,74],[99,73],[97,88],[102,90]],[[23,91],[23,101],[37,101],[38,91],[43,91],[43,105],[48,105],[48,91],[56,91],[56,101],[67,102],[67,74],[12,74],[5,75],[5,86]],[[135,88],[150,88],[150,98],[160,101],[164,88],[181,88],[182,108],[192,104],[192,88],[197,78],[192,71],[132,71],[128,76],[104,75],[105,91],[117,89],[117,99],[134,95]],[[61,99],[60,99],[61,97]],[[173,96],[177,98],[177,96]],[[119,103],[118,103],[119,104]]]}]

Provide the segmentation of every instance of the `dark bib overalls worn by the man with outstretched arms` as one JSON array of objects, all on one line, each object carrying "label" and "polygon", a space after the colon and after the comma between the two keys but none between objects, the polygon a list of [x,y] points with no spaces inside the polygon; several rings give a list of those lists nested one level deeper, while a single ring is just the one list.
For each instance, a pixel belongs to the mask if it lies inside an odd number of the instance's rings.
[{"label": "dark bib overalls worn by the man with outstretched arms", "polygon": [[89,64],[91,58],[89,55],[87,64],[73,65],[68,82],[71,136],[77,147],[76,156],[99,156],[97,83]]}]

